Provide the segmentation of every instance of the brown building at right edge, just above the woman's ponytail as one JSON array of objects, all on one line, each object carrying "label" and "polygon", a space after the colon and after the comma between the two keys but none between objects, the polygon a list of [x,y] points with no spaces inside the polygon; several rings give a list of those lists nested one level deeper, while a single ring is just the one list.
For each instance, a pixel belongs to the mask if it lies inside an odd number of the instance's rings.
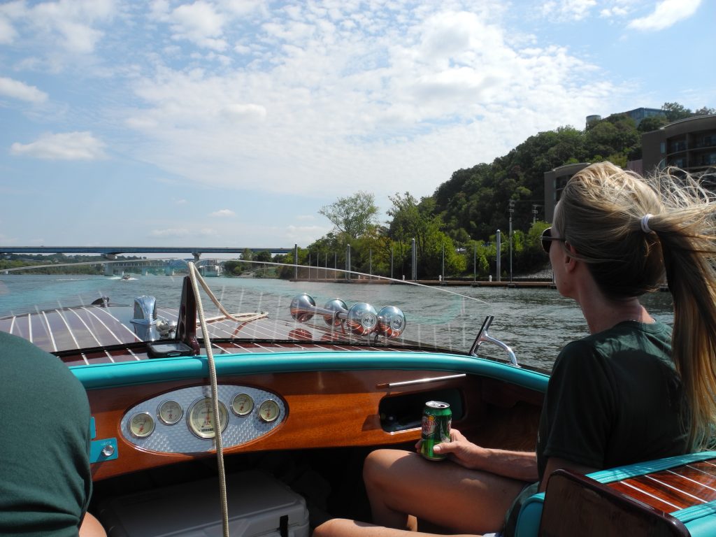
[{"label": "brown building at right edge, just above the woman's ponytail", "polygon": [[644,173],[676,166],[716,173],[716,115],[688,117],[642,135]]}]

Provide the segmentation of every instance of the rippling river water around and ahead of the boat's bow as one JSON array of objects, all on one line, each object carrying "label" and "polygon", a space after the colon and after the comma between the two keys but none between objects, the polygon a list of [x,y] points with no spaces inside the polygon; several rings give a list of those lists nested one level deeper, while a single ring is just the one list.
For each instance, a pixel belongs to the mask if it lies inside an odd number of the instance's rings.
[{"label": "rippling river water around and ahead of the boat's bow", "polygon": [[[105,276],[0,275],[0,316],[58,306],[89,304],[100,296],[112,304],[131,305],[135,296],[153,295],[160,306],[176,308],[183,276],[135,276],[128,281]],[[486,315],[494,315],[490,334],[510,345],[518,361],[551,369],[559,349],[586,336],[579,306],[554,289],[498,287],[424,287],[291,282],[276,279],[208,278],[214,294],[229,311],[266,311],[269,316],[290,319],[291,298],[299,293],[314,297],[321,306],[334,297],[348,306],[368,302],[377,309],[397,306],[405,312],[410,339],[434,339],[436,344],[467,351]],[[643,303],[659,321],[672,323],[671,295],[657,292]],[[216,306],[203,299],[207,314]],[[444,326],[450,324],[449,331]],[[455,326],[459,330],[455,331]],[[412,332],[411,332],[412,331]],[[420,334],[416,334],[416,331]],[[455,333],[460,333],[455,337]],[[490,348],[491,347],[491,348]],[[483,344],[480,354],[505,358],[498,347]]]}]

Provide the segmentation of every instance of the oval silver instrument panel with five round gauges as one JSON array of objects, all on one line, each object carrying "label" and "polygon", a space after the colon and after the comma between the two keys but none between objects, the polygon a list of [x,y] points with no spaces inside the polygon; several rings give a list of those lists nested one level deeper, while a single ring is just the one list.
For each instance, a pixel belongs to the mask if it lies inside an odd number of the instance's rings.
[{"label": "oval silver instrument panel with five round gauges", "polygon": [[216,420],[209,386],[152,397],[125,413],[122,436],[137,448],[157,453],[202,453],[216,449],[217,422],[226,449],[266,435],[287,413],[281,397],[248,386],[219,384],[218,400]]}]

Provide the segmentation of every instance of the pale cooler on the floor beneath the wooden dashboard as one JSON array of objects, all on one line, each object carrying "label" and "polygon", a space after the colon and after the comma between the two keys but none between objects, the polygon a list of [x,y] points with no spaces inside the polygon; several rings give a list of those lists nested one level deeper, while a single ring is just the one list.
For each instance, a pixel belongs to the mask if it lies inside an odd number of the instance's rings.
[{"label": "pale cooler on the floor beneath the wooden dashboard", "polygon": [[[226,476],[231,537],[308,537],[306,501],[270,475]],[[97,518],[108,537],[221,537],[218,478],[110,498]]]}]

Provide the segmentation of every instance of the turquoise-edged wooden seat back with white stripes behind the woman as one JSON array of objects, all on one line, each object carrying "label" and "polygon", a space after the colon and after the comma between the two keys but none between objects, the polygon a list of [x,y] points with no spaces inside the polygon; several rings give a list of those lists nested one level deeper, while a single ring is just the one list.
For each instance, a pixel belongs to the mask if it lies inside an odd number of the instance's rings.
[{"label": "turquoise-edged wooden seat back with white stripes behind the woman", "polygon": [[579,528],[580,536],[586,537],[622,533],[626,527],[634,535],[715,535],[716,452],[589,475],[558,470],[550,476],[546,493],[523,504],[515,534],[558,537],[574,535]]}]

